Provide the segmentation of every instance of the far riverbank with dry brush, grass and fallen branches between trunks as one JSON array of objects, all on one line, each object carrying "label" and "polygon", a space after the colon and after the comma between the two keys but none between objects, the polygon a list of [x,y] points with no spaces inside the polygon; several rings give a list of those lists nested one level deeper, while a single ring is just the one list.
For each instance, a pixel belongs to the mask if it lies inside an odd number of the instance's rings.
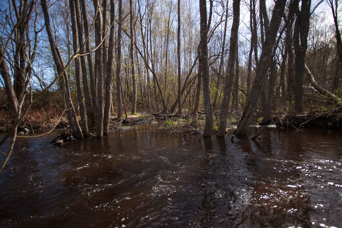
[{"label": "far riverbank with dry brush, grass and fallen branches between trunks", "polygon": [[[276,125],[278,128],[320,128],[320,129],[342,129],[342,106],[328,111],[311,111],[306,113],[279,113],[273,112],[268,121],[262,121],[262,112],[254,115],[252,125]],[[27,128],[34,132],[46,132],[55,127],[55,130],[64,129],[68,126],[63,110],[58,108],[31,108],[18,126],[18,131]],[[236,128],[242,110],[234,110],[228,114],[227,129]],[[0,109],[0,132],[9,131],[15,122],[15,115],[11,111]],[[191,112],[179,114],[169,113],[136,113],[128,115],[127,120],[123,115],[118,119],[112,115],[109,123],[110,132],[130,130],[135,125],[147,125],[160,122],[158,131],[168,134],[201,134],[205,124],[205,113],[198,111],[196,119]],[[219,111],[214,111],[214,124],[212,132],[216,133],[219,125]],[[95,134],[96,128],[90,128]],[[109,132],[109,133],[110,133]]]}]

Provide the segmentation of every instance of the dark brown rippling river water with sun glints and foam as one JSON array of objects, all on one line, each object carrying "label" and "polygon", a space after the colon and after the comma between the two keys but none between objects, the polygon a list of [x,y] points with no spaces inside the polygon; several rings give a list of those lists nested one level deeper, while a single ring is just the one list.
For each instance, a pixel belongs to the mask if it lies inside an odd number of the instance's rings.
[{"label": "dark brown rippling river water with sun glints and foam", "polygon": [[18,139],[0,227],[342,227],[341,131],[232,143],[151,125],[53,148],[55,134]]}]

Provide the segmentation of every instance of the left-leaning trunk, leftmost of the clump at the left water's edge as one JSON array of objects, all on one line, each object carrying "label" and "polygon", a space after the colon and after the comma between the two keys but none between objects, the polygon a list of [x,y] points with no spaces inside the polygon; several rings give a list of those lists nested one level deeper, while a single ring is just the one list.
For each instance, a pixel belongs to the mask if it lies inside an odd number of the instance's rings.
[{"label": "left-leaning trunk, leftmost of the clump at the left water's edge", "polygon": [[53,60],[55,62],[55,65],[56,65],[57,73],[59,75],[63,72],[63,78],[65,81],[65,84],[62,83],[63,84],[62,88],[63,88],[63,93],[64,93],[64,97],[65,97],[65,102],[66,102],[66,114],[67,114],[68,124],[69,124],[71,130],[73,130],[73,135],[76,138],[82,138],[83,134],[82,134],[80,125],[78,124],[78,121],[77,121],[76,112],[74,109],[73,102],[71,101],[68,77],[66,75],[66,72],[63,70],[64,69],[64,63],[61,61],[62,58],[61,58],[60,53],[58,51],[58,48],[55,44],[55,41],[53,39],[46,0],[41,0],[41,7],[42,7],[43,14],[44,14],[45,29],[46,29],[47,34],[48,34],[48,38],[49,38],[49,42],[50,42],[50,46],[51,46],[51,53],[52,53],[52,57],[53,57]]}]

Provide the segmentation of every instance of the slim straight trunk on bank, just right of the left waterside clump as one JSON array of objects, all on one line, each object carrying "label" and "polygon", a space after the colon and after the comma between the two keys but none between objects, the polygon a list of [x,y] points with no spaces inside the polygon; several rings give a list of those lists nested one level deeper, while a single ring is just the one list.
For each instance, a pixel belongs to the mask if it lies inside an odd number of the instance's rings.
[{"label": "slim straight trunk on bank, just right of the left waterside clump", "polygon": [[117,99],[117,109],[118,118],[122,117],[122,104],[121,104],[121,38],[122,38],[122,0],[118,3],[118,37],[117,37],[117,55],[116,55],[116,99]]}]

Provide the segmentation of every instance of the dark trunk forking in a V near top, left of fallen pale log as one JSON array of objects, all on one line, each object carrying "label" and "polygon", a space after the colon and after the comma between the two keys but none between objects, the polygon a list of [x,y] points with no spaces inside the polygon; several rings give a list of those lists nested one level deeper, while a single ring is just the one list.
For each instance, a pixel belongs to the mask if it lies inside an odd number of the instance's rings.
[{"label": "dark trunk forking in a V near top, left of fallen pale log", "polygon": [[295,77],[294,77],[294,109],[297,113],[302,112],[303,102],[303,77],[305,67],[305,54],[307,49],[307,36],[310,26],[311,0],[301,1],[299,11],[299,0],[294,1],[295,21],[294,50],[295,50]]}]

